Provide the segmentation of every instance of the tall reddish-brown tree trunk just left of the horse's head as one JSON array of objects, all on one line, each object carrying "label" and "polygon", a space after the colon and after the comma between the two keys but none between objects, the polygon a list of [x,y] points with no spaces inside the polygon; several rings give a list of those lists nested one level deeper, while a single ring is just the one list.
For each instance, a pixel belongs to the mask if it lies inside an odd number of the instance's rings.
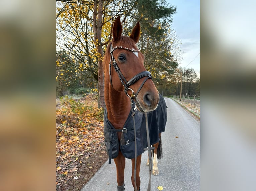
[{"label": "tall reddish-brown tree trunk just left of the horse's head", "polygon": [[[98,7],[98,17],[97,17],[97,7]],[[99,97],[98,97],[98,107],[105,109],[104,101],[104,71],[102,66],[103,59],[103,48],[101,42],[101,32],[102,32],[102,16],[103,16],[103,0],[94,1],[94,14],[93,14],[93,30],[94,30],[94,40],[96,43],[98,56],[98,87],[99,87]]]}]

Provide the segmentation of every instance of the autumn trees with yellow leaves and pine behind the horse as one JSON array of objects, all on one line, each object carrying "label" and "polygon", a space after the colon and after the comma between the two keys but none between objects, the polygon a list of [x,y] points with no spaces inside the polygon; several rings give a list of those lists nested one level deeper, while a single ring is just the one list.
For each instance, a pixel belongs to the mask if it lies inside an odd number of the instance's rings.
[{"label": "autumn trees with yellow leaves and pine behind the horse", "polygon": [[104,108],[102,58],[111,41],[114,19],[121,16],[123,35],[141,24],[137,44],[144,54],[145,68],[163,95],[200,96],[200,79],[192,68],[182,68],[180,40],[172,28],[176,7],[165,0],[56,1],[56,97],[98,93],[98,107]]}]

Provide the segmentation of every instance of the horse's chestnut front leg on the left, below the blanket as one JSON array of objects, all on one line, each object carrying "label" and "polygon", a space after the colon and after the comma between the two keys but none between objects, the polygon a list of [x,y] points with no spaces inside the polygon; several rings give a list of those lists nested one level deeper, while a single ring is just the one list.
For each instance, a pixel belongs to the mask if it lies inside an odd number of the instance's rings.
[{"label": "horse's chestnut front leg on the left, below the blanket", "polygon": [[114,158],[116,164],[116,178],[117,178],[117,191],[124,191],[124,168],[125,157],[119,151],[116,158]]}]

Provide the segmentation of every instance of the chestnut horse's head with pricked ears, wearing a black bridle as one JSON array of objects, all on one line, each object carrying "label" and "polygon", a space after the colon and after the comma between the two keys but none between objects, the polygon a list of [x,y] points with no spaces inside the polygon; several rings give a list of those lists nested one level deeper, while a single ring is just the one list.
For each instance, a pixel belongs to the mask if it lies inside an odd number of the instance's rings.
[{"label": "chestnut horse's head with pricked ears, wearing a black bridle", "polygon": [[129,37],[122,36],[122,30],[120,17],[117,17],[112,28],[113,39],[105,53],[105,62],[110,61],[105,67],[105,85],[106,82],[111,84],[118,92],[125,90],[126,95],[135,99],[141,112],[153,111],[159,102],[159,92],[151,73],[144,67],[145,57],[136,46],[140,23],[137,22]]}]

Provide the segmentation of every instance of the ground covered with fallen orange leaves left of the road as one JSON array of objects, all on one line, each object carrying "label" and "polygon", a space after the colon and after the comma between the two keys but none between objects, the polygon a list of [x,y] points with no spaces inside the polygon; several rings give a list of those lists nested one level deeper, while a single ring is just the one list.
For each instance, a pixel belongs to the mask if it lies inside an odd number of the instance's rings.
[{"label": "ground covered with fallen orange leaves left of the road", "polygon": [[56,101],[56,189],[81,189],[106,161],[103,113],[96,93]]}]

